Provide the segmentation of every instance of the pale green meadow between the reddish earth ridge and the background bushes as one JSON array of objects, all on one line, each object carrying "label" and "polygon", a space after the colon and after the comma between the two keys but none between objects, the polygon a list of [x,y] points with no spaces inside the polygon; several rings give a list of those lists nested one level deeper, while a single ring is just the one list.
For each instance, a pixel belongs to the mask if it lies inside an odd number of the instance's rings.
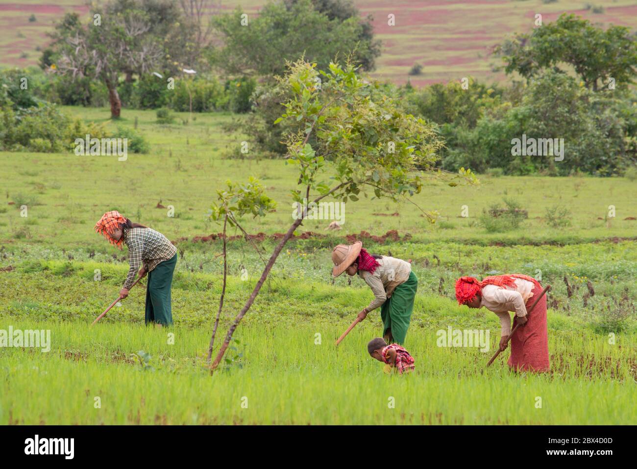
[{"label": "pale green meadow between the reddish earth ridge and the background bushes", "polygon": [[[87,122],[104,123],[112,127],[105,108],[66,111]],[[176,113],[188,118],[187,113]],[[231,117],[224,114],[195,115],[196,121],[182,124],[156,124],[154,111],[124,110],[118,125],[132,126],[152,145],[149,154],[129,153],[126,161],[113,157],[75,156],[68,154],[0,153],[6,174],[0,197],[6,204],[0,209],[0,239],[22,235],[30,243],[49,243],[71,248],[82,242],[97,248],[103,242],[92,232],[104,209],[117,207],[140,223],[150,223],[170,239],[192,238],[220,231],[206,220],[206,212],[227,179],[247,181],[249,175],[261,179],[266,192],[278,204],[276,212],[263,220],[243,220],[249,232],[273,234],[285,231],[292,221],[292,200],[289,191],[296,188],[294,168],[282,161],[224,160],[228,145],[250,138],[230,136],[222,132],[222,124]],[[181,119],[177,119],[178,122]],[[373,194],[370,194],[373,195]],[[477,219],[483,209],[502,204],[506,198],[520,202],[529,212],[528,220],[518,230],[505,235],[485,234]],[[347,234],[367,231],[385,234],[397,230],[399,235],[412,235],[418,241],[455,239],[466,242],[503,242],[506,239],[533,239],[535,242],[593,241],[606,237],[633,237],[637,234],[637,183],[624,178],[592,177],[481,177],[476,186],[450,188],[431,183],[414,202],[426,210],[440,212],[440,221],[432,228],[415,206],[403,202],[378,201],[374,204],[348,202],[345,205]],[[173,205],[175,216],[157,204]],[[22,204],[29,206],[29,216],[16,217]],[[468,217],[462,217],[463,205]],[[571,227],[555,230],[547,225],[547,208],[561,205],[572,214]],[[609,206],[616,217],[607,220]],[[321,232],[329,222],[308,220],[306,231]]]}]

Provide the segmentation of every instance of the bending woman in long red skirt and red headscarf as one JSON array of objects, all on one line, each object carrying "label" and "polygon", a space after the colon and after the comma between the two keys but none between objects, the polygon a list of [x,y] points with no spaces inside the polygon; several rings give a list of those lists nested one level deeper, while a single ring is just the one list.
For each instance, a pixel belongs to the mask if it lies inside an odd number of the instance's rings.
[{"label": "bending woman in long red skirt and red headscarf", "polygon": [[505,350],[511,334],[509,311],[515,311],[513,327],[521,324],[511,338],[508,365],[515,370],[548,371],[547,297],[544,296],[527,315],[534,299],[542,292],[540,282],[524,274],[499,275],[479,281],[473,277],[459,278],[455,297],[469,308],[485,308],[500,318],[500,350]]}]

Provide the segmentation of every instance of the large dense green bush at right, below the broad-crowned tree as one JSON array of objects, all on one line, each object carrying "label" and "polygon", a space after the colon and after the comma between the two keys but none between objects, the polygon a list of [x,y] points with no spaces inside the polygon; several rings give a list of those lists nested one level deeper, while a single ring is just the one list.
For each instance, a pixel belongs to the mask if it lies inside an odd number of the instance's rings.
[{"label": "large dense green bush at right, below the broad-crowned tree", "polygon": [[[636,159],[637,110],[631,96],[594,93],[566,74],[547,71],[531,80],[519,105],[506,101],[487,108],[470,124],[453,122],[441,128],[450,150],[442,167],[474,172],[503,168],[505,174],[542,172],[569,175],[577,170],[592,175],[619,175]],[[443,112],[442,110],[440,112]],[[513,154],[513,139],[557,139],[565,158],[557,154]],[[634,164],[634,163],[633,163]]]}]

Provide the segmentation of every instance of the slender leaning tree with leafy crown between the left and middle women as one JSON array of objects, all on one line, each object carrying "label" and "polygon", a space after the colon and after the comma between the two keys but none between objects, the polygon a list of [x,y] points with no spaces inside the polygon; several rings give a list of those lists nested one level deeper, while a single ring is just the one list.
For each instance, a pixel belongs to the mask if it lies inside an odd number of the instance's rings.
[{"label": "slender leaning tree with leafy crown between the left and middle women", "polygon": [[[302,189],[292,190],[296,202],[313,199],[318,203],[326,197],[355,202],[361,195],[397,200],[419,193],[424,175],[445,177],[434,168],[436,152],[443,145],[434,126],[405,115],[386,96],[372,101],[370,92],[376,85],[359,78],[349,61],[345,66],[331,63],[329,71],[318,71],[316,64],[299,60],[288,64],[279,80],[292,91],[292,98],[275,123],[292,119],[302,124],[301,130],[285,140],[287,161],[299,169]],[[317,140],[315,147],[309,143],[311,136]],[[329,170],[327,162],[331,163]],[[473,175],[467,171],[454,177],[472,179]],[[211,373],[283,246],[306,218],[308,205],[276,244],[252,294],[230,325]],[[433,215],[427,215],[433,220]]]}]

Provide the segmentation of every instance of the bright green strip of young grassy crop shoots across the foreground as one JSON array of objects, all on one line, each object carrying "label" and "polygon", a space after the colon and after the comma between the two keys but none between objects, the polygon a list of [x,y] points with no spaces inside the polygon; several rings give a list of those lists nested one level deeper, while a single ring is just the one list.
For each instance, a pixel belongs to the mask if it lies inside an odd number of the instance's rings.
[{"label": "bright green strip of young grassy crop shoots across the foreground", "polygon": [[[334,325],[242,327],[236,348],[246,357],[243,368],[233,364],[210,378],[200,354],[203,329],[177,328],[174,345],[167,345],[165,331],[139,325],[50,327],[49,353],[3,352],[0,423],[634,424],[637,418],[635,370],[603,338],[552,334],[549,346],[563,357],[554,373],[514,376],[501,366],[482,375],[489,354],[440,348],[434,334],[419,334],[411,347],[419,372],[400,377],[384,375],[362,354],[369,327],[338,349]],[[131,354],[141,350],[150,359]]]}]

